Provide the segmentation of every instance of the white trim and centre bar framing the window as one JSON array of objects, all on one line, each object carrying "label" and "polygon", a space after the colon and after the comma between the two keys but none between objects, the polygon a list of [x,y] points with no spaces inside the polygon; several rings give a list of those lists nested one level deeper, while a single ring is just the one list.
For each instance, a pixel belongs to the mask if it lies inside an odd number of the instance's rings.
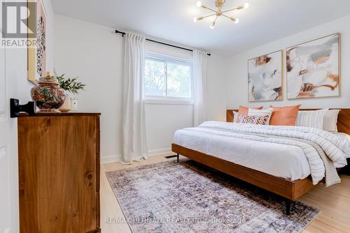
[{"label": "white trim and centre bar framing the window", "polygon": [[[171,61],[173,63],[186,64],[190,66],[190,82],[191,82],[191,97],[181,98],[181,97],[171,97],[167,96],[167,88],[165,89],[165,96],[145,96],[146,104],[158,104],[158,105],[193,105],[193,63],[189,59],[181,59],[178,57],[171,57],[165,54],[158,54],[155,52],[146,52],[146,59],[154,59],[158,61]],[[167,87],[167,70],[165,70],[165,87]]]}]

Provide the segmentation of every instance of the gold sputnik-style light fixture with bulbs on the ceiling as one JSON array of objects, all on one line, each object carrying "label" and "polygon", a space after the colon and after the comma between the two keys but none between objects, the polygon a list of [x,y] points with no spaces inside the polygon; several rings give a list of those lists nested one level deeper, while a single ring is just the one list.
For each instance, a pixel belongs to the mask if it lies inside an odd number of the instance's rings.
[{"label": "gold sputnik-style light fixture with bulbs on the ceiling", "polygon": [[242,9],[246,9],[249,7],[249,3],[244,3],[243,6],[237,6],[235,8],[229,9],[229,10],[223,10],[223,5],[225,5],[226,0],[216,0],[215,1],[215,6],[218,8],[218,10],[213,10],[207,6],[205,6],[202,1],[197,1],[196,5],[197,7],[202,7],[204,9],[208,9],[210,10],[212,13],[210,15],[206,15],[206,16],[199,16],[199,17],[195,17],[193,19],[194,22],[198,22],[200,20],[203,20],[207,17],[211,17],[211,16],[216,16],[215,20],[210,24],[210,28],[214,29],[215,24],[216,24],[216,20],[218,20],[218,17],[223,16],[223,17],[227,17],[228,19],[232,20],[233,22],[235,22],[236,24],[239,22],[239,19],[235,18],[235,17],[230,17],[228,15],[226,15],[226,13],[232,11],[232,10],[242,10]]}]

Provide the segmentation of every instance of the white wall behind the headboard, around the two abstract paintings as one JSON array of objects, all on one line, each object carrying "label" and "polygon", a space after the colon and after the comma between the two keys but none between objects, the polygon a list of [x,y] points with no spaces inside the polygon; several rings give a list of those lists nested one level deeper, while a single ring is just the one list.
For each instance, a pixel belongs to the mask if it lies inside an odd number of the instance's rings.
[{"label": "white wall behind the headboard, around the two abstract paintings", "polygon": [[[302,108],[318,108],[318,107],[350,107],[350,67],[347,65],[350,60],[350,15],[343,17],[334,22],[329,22],[318,27],[314,27],[307,31],[276,40],[267,45],[255,47],[246,52],[231,57],[229,60],[228,75],[228,108],[237,108],[239,105],[268,107],[273,105],[295,105],[302,104]],[[341,97],[337,98],[314,98],[314,99],[286,99],[286,71],[284,73],[284,100],[263,103],[248,103],[248,68],[247,61],[262,54],[274,52],[276,50],[285,50],[287,47],[300,43],[314,40],[322,36],[328,36],[332,33],[341,33]],[[284,66],[286,66],[286,54],[284,52]],[[284,67],[286,70],[286,67]]]}]

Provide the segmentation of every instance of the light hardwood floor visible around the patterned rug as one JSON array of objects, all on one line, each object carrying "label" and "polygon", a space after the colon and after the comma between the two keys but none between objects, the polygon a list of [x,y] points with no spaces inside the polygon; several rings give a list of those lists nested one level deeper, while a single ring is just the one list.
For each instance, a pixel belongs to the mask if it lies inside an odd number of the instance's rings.
[{"label": "light hardwood floor visible around the patterned rug", "polygon": [[[170,159],[175,160],[176,158]],[[159,163],[170,159],[164,158],[164,156],[155,156],[132,165],[123,165],[121,163],[102,165],[100,189],[102,232],[131,233],[127,223],[115,223],[116,218],[123,218],[124,215],[104,173],[128,167]],[[300,202],[315,206],[321,210],[317,218],[303,230],[304,233],[350,232],[350,176],[342,174],[340,177],[342,183],[329,188],[318,184],[313,190],[298,199]]]}]

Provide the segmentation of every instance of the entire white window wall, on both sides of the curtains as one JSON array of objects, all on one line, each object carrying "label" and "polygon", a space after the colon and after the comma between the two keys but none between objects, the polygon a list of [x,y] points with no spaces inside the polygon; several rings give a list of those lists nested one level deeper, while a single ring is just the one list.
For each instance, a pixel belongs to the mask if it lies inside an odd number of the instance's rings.
[{"label": "entire white window wall, on both sides of the curtains", "polygon": [[[148,49],[152,45],[146,45]],[[164,48],[161,48],[164,52]],[[102,162],[121,158],[123,38],[114,29],[55,16],[55,68],[87,84],[78,96],[80,112],[102,112]],[[182,50],[168,50],[183,55]],[[209,57],[209,118],[225,119],[225,59]],[[211,98],[212,97],[212,98]],[[174,131],[193,126],[193,105],[146,105],[150,155],[169,151]]]}]

